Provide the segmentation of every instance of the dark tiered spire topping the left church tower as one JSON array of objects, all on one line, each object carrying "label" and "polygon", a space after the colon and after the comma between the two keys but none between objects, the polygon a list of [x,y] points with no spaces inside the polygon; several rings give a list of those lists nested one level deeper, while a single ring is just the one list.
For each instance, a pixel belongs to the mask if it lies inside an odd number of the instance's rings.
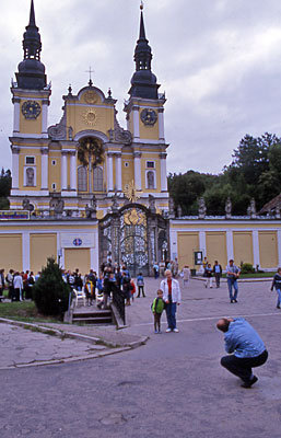
[{"label": "dark tiered spire topping the left church tower", "polygon": [[23,34],[23,61],[19,64],[19,73],[15,73],[19,88],[42,90],[46,87],[40,51],[40,34],[35,23],[34,1],[31,0],[30,23]]}]

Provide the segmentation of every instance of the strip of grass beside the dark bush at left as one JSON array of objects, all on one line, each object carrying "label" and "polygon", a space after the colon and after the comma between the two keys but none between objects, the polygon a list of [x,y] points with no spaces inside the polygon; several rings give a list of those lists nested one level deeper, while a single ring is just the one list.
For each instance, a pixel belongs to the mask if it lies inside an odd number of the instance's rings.
[{"label": "strip of grass beside the dark bush at left", "polygon": [[[4,293],[7,296],[7,293]],[[0,302],[0,318],[24,322],[51,322],[61,321],[51,316],[44,316],[38,313],[34,301]]]}]

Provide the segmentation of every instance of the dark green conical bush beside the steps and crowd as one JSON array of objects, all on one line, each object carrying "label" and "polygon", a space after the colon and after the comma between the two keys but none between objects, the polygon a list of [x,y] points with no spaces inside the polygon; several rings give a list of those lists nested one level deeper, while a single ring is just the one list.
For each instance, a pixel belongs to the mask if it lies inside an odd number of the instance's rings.
[{"label": "dark green conical bush beside the steps and crowd", "polygon": [[70,287],[61,277],[61,269],[54,258],[47,260],[47,266],[33,286],[33,299],[38,312],[44,315],[59,315],[68,310]]}]

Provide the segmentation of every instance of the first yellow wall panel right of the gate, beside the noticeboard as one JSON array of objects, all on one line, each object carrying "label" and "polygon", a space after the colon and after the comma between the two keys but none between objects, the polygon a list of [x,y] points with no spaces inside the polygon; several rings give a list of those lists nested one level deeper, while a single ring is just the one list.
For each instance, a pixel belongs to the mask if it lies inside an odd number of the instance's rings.
[{"label": "first yellow wall panel right of the gate, beside the noticeboard", "polygon": [[194,250],[199,247],[199,234],[197,232],[180,232],[177,234],[178,265],[194,267]]}]

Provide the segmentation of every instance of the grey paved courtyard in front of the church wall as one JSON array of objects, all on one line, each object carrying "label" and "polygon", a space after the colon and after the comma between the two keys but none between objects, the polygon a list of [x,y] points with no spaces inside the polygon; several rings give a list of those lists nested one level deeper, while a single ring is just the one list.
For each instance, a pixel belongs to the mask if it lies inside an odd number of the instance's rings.
[{"label": "grey paved courtyard in front of the church wall", "polygon": [[[87,360],[0,370],[1,438],[214,438],[222,434],[279,438],[281,311],[276,309],[270,281],[241,283],[238,303],[231,304],[225,283],[220,289],[206,289],[192,279],[182,289],[179,333],[154,335],[150,304],[157,287],[157,280],[147,279],[148,297],[136,298],[127,309],[128,328],[85,328],[92,336],[120,344],[126,336],[129,341],[150,336],[145,345]],[[225,353],[215,322],[223,315],[246,316],[268,347],[269,360],[257,369],[259,381],[250,390],[242,389],[239,380],[220,366]],[[11,331],[16,332],[17,343],[9,345]],[[85,342],[60,341],[5,324],[0,324],[0,365],[7,351],[21,346],[22,336],[31,336],[31,346],[20,350],[21,360],[26,355],[32,359],[46,343],[57,358],[70,350],[83,356],[91,349]]]}]

